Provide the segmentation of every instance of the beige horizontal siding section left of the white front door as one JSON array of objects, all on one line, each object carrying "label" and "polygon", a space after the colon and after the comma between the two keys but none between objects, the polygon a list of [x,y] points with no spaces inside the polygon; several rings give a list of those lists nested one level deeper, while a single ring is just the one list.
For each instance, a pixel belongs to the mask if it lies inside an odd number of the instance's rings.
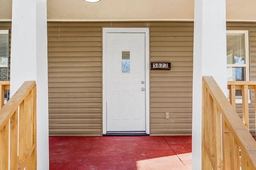
[{"label": "beige horizontal siding section left of the white front door", "polygon": [[101,25],[48,23],[50,136],[102,134]]}]

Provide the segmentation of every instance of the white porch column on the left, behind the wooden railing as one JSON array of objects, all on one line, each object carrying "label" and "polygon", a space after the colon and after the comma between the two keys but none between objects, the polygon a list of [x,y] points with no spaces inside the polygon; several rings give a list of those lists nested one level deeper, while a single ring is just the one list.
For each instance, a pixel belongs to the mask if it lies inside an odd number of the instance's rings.
[{"label": "white porch column on the left, behind the wooden railing", "polygon": [[12,0],[10,93],[36,81],[38,170],[49,169],[46,12],[46,0]]}]

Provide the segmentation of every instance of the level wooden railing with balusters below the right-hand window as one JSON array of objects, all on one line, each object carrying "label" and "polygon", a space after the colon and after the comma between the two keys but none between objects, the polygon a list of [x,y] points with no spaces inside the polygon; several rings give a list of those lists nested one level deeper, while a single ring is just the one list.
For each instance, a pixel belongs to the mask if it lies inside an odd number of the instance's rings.
[{"label": "level wooden railing with balusters below the right-hand window", "polygon": [[[256,81],[228,81],[228,90],[230,103],[234,108],[236,108],[236,90],[242,90],[242,120],[244,125],[249,130],[249,90],[254,90],[256,92]],[[254,96],[255,98],[255,96]],[[256,117],[256,105],[255,107],[255,117]],[[256,125],[256,118],[255,118]],[[255,127],[256,129],[256,127]]]}]

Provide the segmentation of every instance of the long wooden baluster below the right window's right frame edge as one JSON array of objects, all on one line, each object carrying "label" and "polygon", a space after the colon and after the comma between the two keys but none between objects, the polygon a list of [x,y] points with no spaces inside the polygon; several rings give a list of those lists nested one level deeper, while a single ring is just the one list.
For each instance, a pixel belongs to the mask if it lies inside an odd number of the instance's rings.
[{"label": "long wooden baluster below the right window's right frame edge", "polygon": [[242,114],[243,123],[249,130],[248,85],[242,85]]}]

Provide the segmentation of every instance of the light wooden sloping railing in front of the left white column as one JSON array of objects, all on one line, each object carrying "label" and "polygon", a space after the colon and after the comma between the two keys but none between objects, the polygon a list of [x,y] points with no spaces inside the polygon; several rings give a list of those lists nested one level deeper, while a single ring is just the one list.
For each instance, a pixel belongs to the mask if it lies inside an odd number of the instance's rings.
[{"label": "light wooden sloping railing in front of the left white column", "polygon": [[36,170],[34,81],[24,82],[0,109],[0,170],[8,170],[8,166],[11,170]]}]

